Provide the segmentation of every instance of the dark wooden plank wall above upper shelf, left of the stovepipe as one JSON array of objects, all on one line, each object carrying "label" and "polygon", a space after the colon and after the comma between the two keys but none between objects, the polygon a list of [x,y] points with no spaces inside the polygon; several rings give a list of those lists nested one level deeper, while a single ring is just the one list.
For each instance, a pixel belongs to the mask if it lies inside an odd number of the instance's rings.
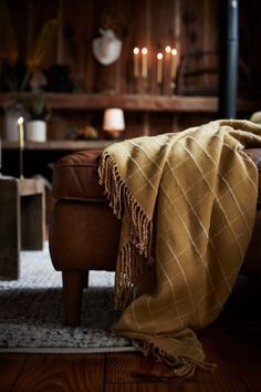
[{"label": "dark wooden plank wall above upper shelf, left of the stovepipe", "polygon": [[[43,22],[56,18],[59,3],[59,0],[8,1],[21,58],[27,56]],[[208,74],[208,69],[213,69],[218,58],[217,3],[217,0],[64,0],[63,45],[60,50],[54,45],[43,68],[58,62],[69,65],[73,90],[164,93],[167,89],[160,90],[156,81],[156,54],[164,53],[169,44],[177,48],[179,63],[185,69],[181,83],[185,92],[192,92],[197,85],[200,90],[209,84],[217,87],[217,78]],[[119,60],[107,66],[101,65],[92,52],[92,41],[100,35],[98,29],[104,28],[104,16],[112,16],[123,40]],[[138,87],[133,75],[134,47],[148,49],[148,78],[144,83],[139,81],[142,86]],[[216,76],[217,71],[216,68]],[[202,72],[201,76],[197,72]],[[191,73],[195,73],[194,79]]]}]

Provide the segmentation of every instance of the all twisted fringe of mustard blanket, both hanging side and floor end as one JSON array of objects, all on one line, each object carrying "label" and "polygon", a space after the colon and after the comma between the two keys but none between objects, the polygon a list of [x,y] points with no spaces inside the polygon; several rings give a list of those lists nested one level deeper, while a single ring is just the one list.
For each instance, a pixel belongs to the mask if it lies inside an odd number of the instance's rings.
[{"label": "all twisted fringe of mustard blanket, both hanging side and floor end", "polygon": [[[130,195],[119,176],[113,157],[107,152],[101,157],[98,174],[100,184],[105,188],[105,195],[114,214],[121,219],[123,214],[126,213],[132,221],[130,241],[119,249],[116,261],[115,306],[124,309],[130,300],[135,277],[138,277],[142,272],[144,260],[146,259],[148,264],[153,262],[153,223]],[[144,355],[152,355],[156,361],[169,365],[169,372],[161,374],[163,378],[189,379],[195,374],[196,369],[212,371],[216,368],[216,364],[206,363],[203,360],[170,357],[159,350],[153,341],[134,340],[133,344]]]}]

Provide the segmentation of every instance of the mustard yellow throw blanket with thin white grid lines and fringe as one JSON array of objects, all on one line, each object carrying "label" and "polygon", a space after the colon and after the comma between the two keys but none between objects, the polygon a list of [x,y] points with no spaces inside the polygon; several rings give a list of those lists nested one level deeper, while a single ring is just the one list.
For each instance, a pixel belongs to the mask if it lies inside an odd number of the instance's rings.
[{"label": "mustard yellow throw blanket with thin white grid lines and fringe", "polygon": [[[189,376],[207,368],[194,331],[219,314],[251,238],[261,126],[216,121],[105,149],[101,184],[122,218],[117,334]],[[135,293],[130,301],[129,292]]]}]

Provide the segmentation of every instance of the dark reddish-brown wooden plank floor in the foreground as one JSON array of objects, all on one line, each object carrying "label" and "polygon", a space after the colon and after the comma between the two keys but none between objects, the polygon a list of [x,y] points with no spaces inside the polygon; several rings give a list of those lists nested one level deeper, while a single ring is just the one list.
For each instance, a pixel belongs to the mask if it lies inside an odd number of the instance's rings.
[{"label": "dark reddish-brown wooden plank floor in the foreground", "polygon": [[231,296],[218,320],[198,334],[217,369],[191,380],[161,379],[163,365],[139,353],[0,353],[0,391],[261,392],[260,303],[260,288]]}]

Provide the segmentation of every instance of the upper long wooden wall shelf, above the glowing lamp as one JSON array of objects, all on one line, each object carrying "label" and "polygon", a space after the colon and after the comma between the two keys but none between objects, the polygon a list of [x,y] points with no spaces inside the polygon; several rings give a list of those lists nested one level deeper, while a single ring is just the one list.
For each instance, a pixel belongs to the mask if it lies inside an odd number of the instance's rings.
[{"label": "upper long wooden wall shelf, above the glowing lamp", "polygon": [[[30,93],[24,96],[30,96]],[[12,100],[12,94],[0,93],[0,106],[3,107]],[[148,112],[217,113],[218,111],[216,96],[46,93],[46,100],[49,105],[56,110],[104,110],[116,106],[126,111]],[[260,107],[260,102],[238,101],[240,112],[253,112]]]}]

